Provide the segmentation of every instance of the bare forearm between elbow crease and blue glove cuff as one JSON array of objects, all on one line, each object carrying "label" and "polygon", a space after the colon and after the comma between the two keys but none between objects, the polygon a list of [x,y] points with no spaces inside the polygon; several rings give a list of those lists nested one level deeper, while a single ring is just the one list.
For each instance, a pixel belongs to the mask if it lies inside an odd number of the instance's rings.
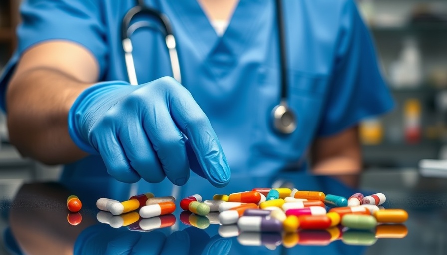
[{"label": "bare forearm between elbow crease and blue glove cuff", "polygon": [[13,77],[7,91],[10,141],[25,157],[47,164],[85,156],[68,134],[68,111],[90,84],[51,68],[35,68]]}]

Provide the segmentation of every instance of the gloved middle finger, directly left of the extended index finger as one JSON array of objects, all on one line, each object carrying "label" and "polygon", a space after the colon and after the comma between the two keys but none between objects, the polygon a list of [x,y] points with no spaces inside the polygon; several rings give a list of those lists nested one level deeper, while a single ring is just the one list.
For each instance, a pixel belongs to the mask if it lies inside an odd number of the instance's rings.
[{"label": "gloved middle finger, directly left of the extended index finger", "polygon": [[166,177],[175,185],[184,185],[190,177],[185,138],[172,120],[166,102],[155,102],[143,115],[144,130]]}]

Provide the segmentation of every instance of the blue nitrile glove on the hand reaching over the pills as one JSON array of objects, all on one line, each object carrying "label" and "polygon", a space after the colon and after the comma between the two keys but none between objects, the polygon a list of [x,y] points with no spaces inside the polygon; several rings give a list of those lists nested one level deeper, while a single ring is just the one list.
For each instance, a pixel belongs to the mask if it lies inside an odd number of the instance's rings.
[{"label": "blue nitrile glove on the hand reaching over the pills", "polygon": [[191,168],[216,187],[229,182],[230,169],[210,121],[171,77],[138,86],[98,83],[76,99],[68,124],[76,145],[99,153],[119,181],[157,183],[167,176],[183,185]]}]

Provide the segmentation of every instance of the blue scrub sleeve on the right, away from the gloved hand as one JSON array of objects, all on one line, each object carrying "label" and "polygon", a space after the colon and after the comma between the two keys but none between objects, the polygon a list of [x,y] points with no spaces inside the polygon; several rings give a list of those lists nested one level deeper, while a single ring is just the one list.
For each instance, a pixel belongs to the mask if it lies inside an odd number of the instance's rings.
[{"label": "blue scrub sleeve on the right, away from the gloved hand", "polygon": [[378,67],[371,35],[353,0],[344,6],[339,27],[318,137],[337,134],[394,106]]}]

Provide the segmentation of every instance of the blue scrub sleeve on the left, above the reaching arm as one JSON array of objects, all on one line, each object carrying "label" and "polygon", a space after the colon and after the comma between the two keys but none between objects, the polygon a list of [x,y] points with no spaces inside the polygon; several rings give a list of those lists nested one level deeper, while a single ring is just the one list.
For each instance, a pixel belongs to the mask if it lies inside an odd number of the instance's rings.
[{"label": "blue scrub sleeve on the left, above the reaching arm", "polygon": [[106,69],[107,44],[101,7],[96,0],[24,0],[22,22],[17,28],[17,50],[0,77],[0,107],[6,111],[5,93],[15,66],[24,51],[49,40],[68,40],[88,49],[96,58],[100,77]]}]

